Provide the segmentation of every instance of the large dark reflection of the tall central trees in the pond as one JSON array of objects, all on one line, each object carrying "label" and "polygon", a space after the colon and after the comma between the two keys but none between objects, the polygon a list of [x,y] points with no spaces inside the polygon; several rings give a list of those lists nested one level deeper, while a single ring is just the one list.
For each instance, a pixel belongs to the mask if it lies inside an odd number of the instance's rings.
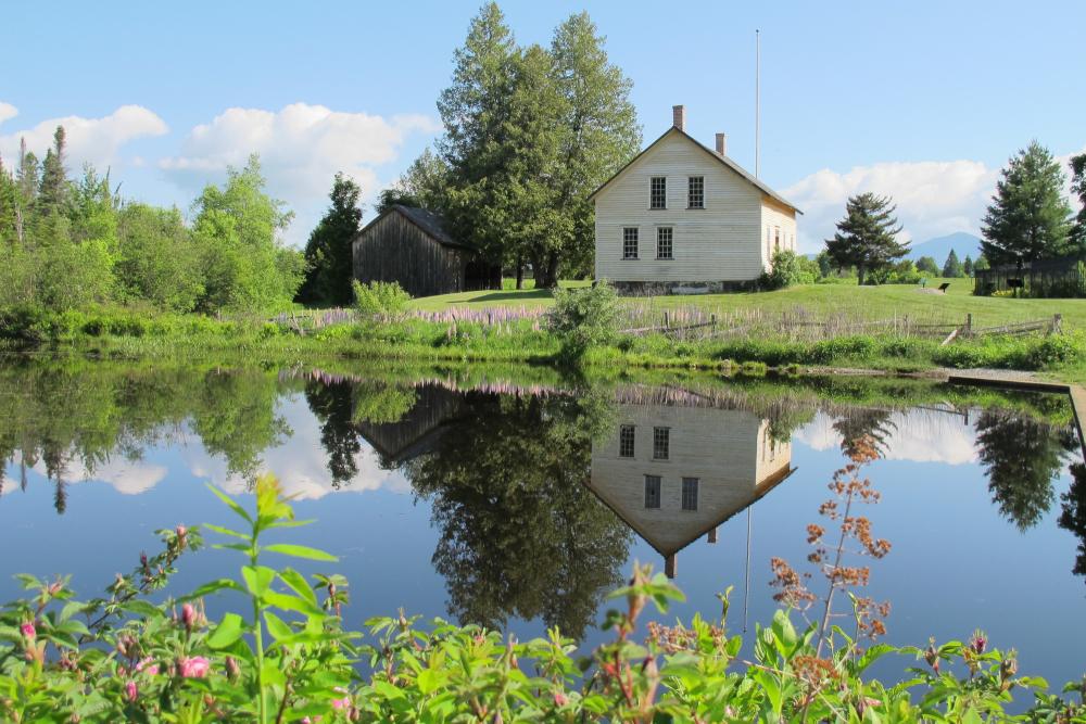
[{"label": "large dark reflection of the tall central trees in the pond", "polygon": [[584,485],[609,406],[592,394],[464,402],[437,448],[406,467],[442,531],[433,562],[450,613],[485,625],[539,617],[580,636],[631,539]]}]

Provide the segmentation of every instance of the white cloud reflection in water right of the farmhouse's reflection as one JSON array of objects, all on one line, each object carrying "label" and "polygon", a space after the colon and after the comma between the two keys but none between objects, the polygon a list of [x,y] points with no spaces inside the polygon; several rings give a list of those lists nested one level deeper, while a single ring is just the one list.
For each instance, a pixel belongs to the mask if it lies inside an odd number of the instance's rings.
[{"label": "white cloud reflection in water right of the farmhouse's reflection", "polygon": [[[841,446],[841,434],[833,429],[833,417],[819,414],[793,436],[815,450]],[[960,415],[913,409],[894,412],[887,425],[886,459],[912,462],[976,462],[976,435]]]}]

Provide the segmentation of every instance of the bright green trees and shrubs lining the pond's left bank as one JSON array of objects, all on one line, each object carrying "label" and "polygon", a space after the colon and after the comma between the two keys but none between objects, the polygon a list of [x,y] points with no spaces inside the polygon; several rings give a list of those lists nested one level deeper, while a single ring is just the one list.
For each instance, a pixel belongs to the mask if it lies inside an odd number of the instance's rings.
[{"label": "bright green trees and shrubs lining the pond's left bank", "polygon": [[0,160],[0,306],[217,313],[292,302],[305,268],[281,241],[293,214],[266,193],[255,155],[203,189],[191,224],[176,206],[123,199],[89,164],[73,179],[65,162],[62,126],[45,160],[25,142],[14,168]]}]

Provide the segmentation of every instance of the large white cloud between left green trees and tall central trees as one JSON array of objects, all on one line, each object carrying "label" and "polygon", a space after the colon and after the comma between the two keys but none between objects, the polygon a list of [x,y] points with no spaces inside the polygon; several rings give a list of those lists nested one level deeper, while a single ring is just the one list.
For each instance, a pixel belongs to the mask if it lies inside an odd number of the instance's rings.
[{"label": "large white cloud between left green trees and tall central trees", "polygon": [[299,234],[308,233],[305,223],[326,204],[337,172],[371,194],[378,187],[377,168],[396,161],[411,135],[439,128],[434,119],[417,114],[386,118],[306,103],[279,111],[233,107],[194,127],[181,152],[159,166],[180,186],[195,190],[219,180],[228,165],[243,166],[251,153],[258,153],[270,192],[299,212],[290,233],[298,241]]}]

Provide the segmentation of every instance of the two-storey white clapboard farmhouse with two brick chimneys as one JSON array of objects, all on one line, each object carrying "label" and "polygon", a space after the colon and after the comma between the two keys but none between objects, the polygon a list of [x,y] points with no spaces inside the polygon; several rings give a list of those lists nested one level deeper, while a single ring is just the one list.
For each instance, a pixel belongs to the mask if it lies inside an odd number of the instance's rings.
[{"label": "two-storey white clapboard farmhouse with two brick chimneys", "polygon": [[629,294],[696,294],[753,287],[778,250],[796,249],[796,215],[779,193],[686,134],[673,109],[666,134],[590,196],[596,279]]}]

